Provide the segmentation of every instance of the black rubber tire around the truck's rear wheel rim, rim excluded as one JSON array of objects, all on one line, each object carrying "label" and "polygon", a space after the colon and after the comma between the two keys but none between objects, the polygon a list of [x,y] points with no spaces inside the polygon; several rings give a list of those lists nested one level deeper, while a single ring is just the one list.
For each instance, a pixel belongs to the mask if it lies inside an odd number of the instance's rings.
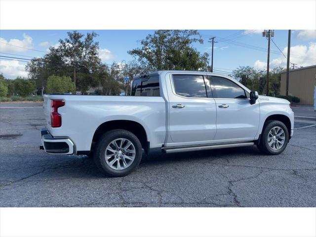
[{"label": "black rubber tire around the truck's rear wheel rim, rim excluded", "polygon": [[[133,161],[131,161],[132,163],[129,164],[127,168],[116,170],[114,168],[111,168],[107,164],[105,160],[105,151],[106,151],[107,146],[112,141],[119,138],[128,139],[133,144],[133,146],[135,147],[135,158]],[[114,130],[104,133],[100,137],[95,147],[95,150],[93,152],[93,159],[97,167],[100,169],[100,171],[106,174],[107,176],[112,176],[112,177],[125,176],[131,173],[139,165],[142,159],[142,145],[139,139],[133,133],[127,130],[123,130],[123,129],[114,129]]]}]

